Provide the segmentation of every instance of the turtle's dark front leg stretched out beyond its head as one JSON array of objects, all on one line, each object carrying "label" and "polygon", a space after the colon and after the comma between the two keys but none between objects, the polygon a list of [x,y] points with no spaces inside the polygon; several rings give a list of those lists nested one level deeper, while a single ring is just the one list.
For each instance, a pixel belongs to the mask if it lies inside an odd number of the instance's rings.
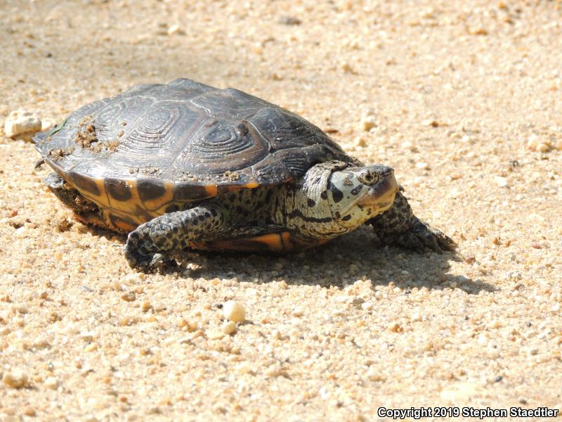
[{"label": "turtle's dark front leg stretched out beyond its head", "polygon": [[457,244],[438,229],[422,222],[412,212],[412,207],[402,193],[396,193],[393,205],[377,217],[367,221],[385,245],[423,252],[454,250]]}]

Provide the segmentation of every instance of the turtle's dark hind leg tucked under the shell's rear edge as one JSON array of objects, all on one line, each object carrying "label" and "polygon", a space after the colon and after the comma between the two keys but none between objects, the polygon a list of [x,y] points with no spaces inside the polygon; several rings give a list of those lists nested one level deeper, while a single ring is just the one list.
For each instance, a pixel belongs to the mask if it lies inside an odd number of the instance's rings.
[{"label": "turtle's dark hind leg tucked under the shell's rear edge", "polygon": [[56,173],[51,173],[44,179],[44,184],[55,196],[74,211],[74,215],[84,224],[93,224],[105,229],[110,229],[105,224],[105,217],[98,205],[82,196],[77,189],[72,188],[65,179]]}]

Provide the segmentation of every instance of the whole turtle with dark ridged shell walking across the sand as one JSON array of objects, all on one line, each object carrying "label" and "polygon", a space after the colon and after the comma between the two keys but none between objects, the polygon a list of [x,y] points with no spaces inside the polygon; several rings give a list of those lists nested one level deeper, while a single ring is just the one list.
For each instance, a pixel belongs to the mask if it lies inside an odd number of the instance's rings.
[{"label": "whole turtle with dark ridged shell walking across the sand", "polygon": [[127,234],[134,269],[185,250],[290,252],[363,224],[384,245],[454,250],[391,167],[363,165],[299,115],[190,79],[140,84],[34,137],[48,188],[85,224]]}]

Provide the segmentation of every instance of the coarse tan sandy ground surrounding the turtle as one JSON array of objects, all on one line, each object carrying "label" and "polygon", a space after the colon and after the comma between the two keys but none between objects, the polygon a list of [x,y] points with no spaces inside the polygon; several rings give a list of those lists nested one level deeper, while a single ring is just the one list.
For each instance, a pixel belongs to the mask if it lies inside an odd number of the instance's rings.
[{"label": "coarse tan sandy ground surrounding the turtle", "polygon": [[[193,253],[179,272],[137,274],[124,238],[75,222],[32,144],[2,132],[0,418],[560,409],[561,9],[0,1],[0,120],[23,108],[58,122],[176,77],[237,87],[394,167],[417,214],[459,243],[457,257],[415,255],[361,229],[301,255]],[[248,321],[221,338],[229,299]]]}]

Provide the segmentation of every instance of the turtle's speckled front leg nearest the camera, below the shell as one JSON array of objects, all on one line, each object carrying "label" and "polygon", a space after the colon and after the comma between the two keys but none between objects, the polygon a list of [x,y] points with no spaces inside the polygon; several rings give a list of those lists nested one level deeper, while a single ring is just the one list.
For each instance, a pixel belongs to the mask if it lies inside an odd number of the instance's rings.
[{"label": "turtle's speckled front leg nearest the camera, below the shell", "polygon": [[159,267],[164,261],[171,262],[171,253],[188,247],[192,241],[223,231],[224,226],[223,212],[215,207],[200,206],[169,212],[129,233],[125,258],[132,268]]}]

